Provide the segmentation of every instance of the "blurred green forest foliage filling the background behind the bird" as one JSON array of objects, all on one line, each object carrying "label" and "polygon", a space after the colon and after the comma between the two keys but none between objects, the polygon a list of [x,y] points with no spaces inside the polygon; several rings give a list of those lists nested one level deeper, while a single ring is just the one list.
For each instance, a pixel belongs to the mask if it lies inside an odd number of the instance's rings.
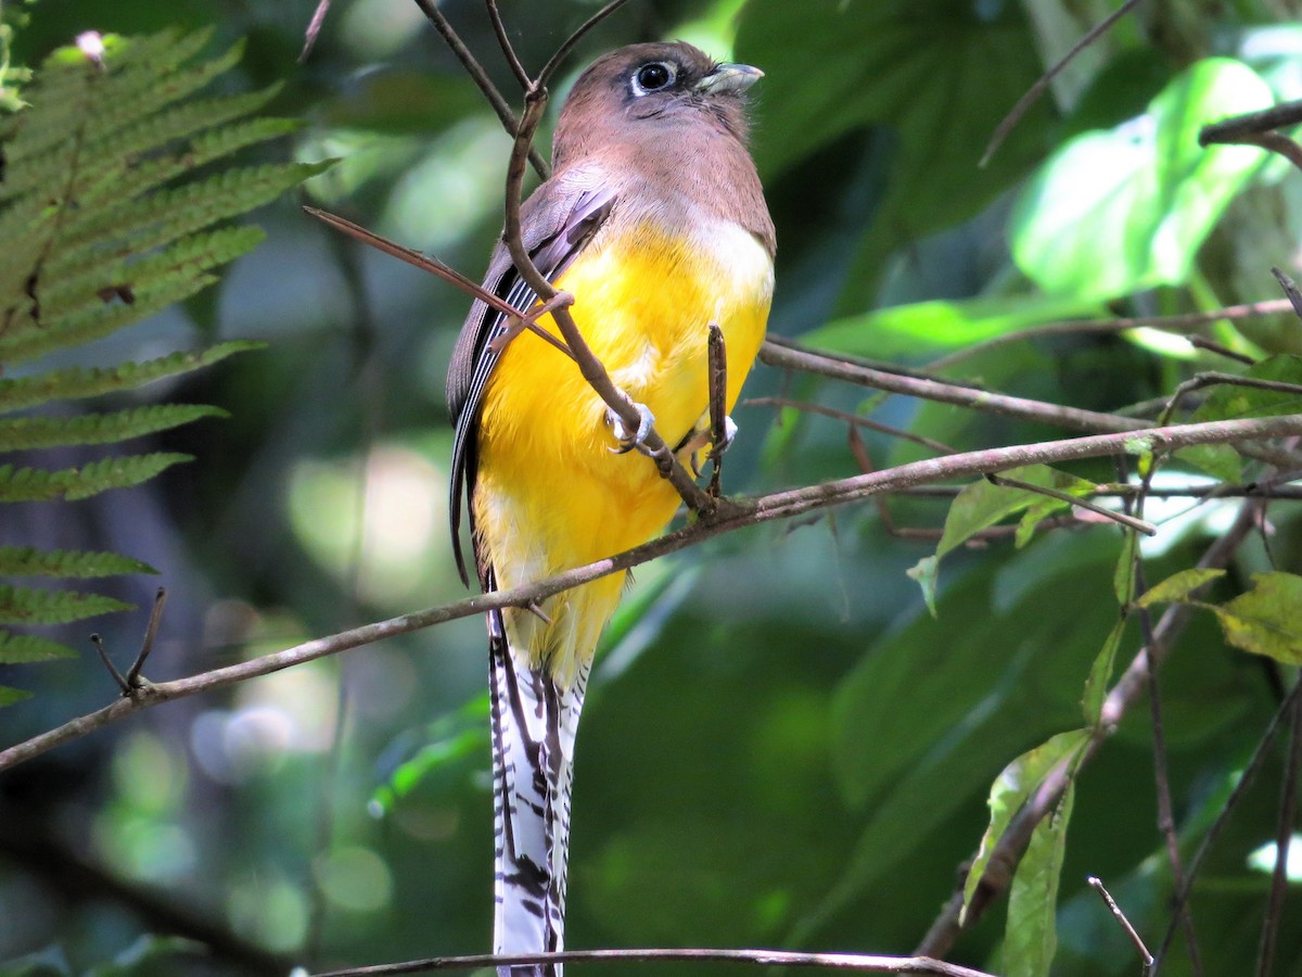
[{"label": "blurred green forest foliage filling the background behind the bird", "polygon": [[[440,7],[514,92],[482,4]],[[501,7],[533,68],[594,9]],[[1279,296],[1271,266],[1298,271],[1302,177],[1258,150],[1204,152],[1190,139],[1226,112],[1302,96],[1302,25],[1275,0],[1141,5],[978,167],[1004,113],[1113,7],[630,0],[579,46],[568,77],[604,50],[665,36],[764,69],[754,149],[780,240],[773,332],[905,366],[944,356],[934,369],[958,382],[1118,410],[1194,371],[1242,367],[1155,331],[997,340],[1060,319]],[[335,0],[299,64],[312,8],[42,0],[12,42],[0,36],[0,55],[39,64],[85,30],[211,26],[212,51],[247,36],[217,95],[281,86],[270,111],[306,121],[294,159],[342,158],[307,197],[478,275],[501,224],[509,143],[499,124],[410,0]],[[283,160],[285,147],[256,152]],[[158,568],[172,597],[155,679],[464,593],[441,513],[443,375],[465,298],[332,236],[293,201],[256,221],[267,241],[219,287],[59,365],[268,343],[161,384],[169,401],[230,413],[150,436],[199,464],[65,509],[7,507],[0,524],[4,546],[130,552]],[[1295,317],[1202,332],[1241,354],[1277,354],[1251,374],[1297,382]],[[1061,436],[766,369],[749,383],[956,448]],[[1292,409],[1286,395],[1234,388],[1177,419]],[[931,456],[862,432],[857,459],[841,422],[793,409],[741,408],[737,419],[733,492],[854,474],[863,457],[880,468]],[[1193,453],[1168,460],[1154,485],[1259,473],[1234,452]],[[1022,478],[1074,491],[1124,474],[1092,461]],[[1074,748],[1082,713],[1099,722],[1107,676],[1143,640],[1137,612],[1121,619],[1137,582],[1128,556],[1139,554],[1148,581],[1173,581],[1151,603],[1193,599],[1195,581],[1173,574],[1237,508],[1152,498],[1144,517],[1161,531],[1135,543],[1092,521],[1049,531],[1044,517],[1061,511],[1021,492],[979,483],[948,518],[949,500],[893,498],[639,569],[579,740],[572,946],[913,950],[988,826],[997,834],[1044,765]],[[1293,504],[1272,504],[1271,534],[1206,581],[1198,599],[1212,610],[1198,611],[1160,673],[1186,857],[1295,677]],[[1006,517],[1026,528],[975,545],[975,530]],[[940,551],[932,615],[906,571]],[[130,603],[151,590],[105,586]],[[108,619],[108,647],[132,649],[142,625]],[[1258,641],[1267,632],[1282,644]],[[52,640],[83,644],[66,629]],[[1268,654],[1240,650],[1254,641]],[[0,918],[13,921],[0,927],[0,959],[26,957],[30,973],[272,973],[482,951],[492,835],[483,658],[480,623],[458,621],[151,710],[0,775]],[[7,744],[115,694],[86,658],[0,679],[39,693],[5,711]],[[1195,890],[1208,974],[1241,973],[1256,954],[1281,762],[1276,749]],[[1043,973],[1052,955],[1055,974],[1133,973],[1133,948],[1085,877],[1103,878],[1150,946],[1160,941],[1173,882],[1152,765],[1138,709],[1044,822],[1012,901],[965,931],[953,959]],[[1288,903],[1279,959],[1299,955],[1302,920]],[[1190,972],[1177,939],[1163,973]]]}]

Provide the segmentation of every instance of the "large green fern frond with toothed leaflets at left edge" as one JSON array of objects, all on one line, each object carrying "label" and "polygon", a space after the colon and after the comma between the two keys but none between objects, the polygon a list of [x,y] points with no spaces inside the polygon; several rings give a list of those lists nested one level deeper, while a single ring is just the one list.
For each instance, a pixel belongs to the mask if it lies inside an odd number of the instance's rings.
[{"label": "large green fern frond with toothed leaflets at left edge", "polygon": [[[12,5],[0,9],[12,21]],[[117,455],[51,470],[5,462],[3,452],[116,444],[225,416],[202,404],[76,413],[65,403],[132,391],[259,344],[224,343],[139,363],[42,370],[36,361],[108,336],[216,281],[217,268],[263,237],[256,227],[223,221],[331,162],[229,165],[232,154],[299,124],[251,117],[276,86],[202,95],[242,53],[237,44],[203,59],[210,31],[104,36],[102,61],[62,48],[36,72],[9,64],[10,35],[12,23],[0,25],[0,504],[72,502],[139,485],[189,456]],[[25,365],[20,375],[16,365]],[[35,408],[52,409],[20,414]],[[48,577],[56,588],[72,578],[152,572],[118,554],[0,546],[0,577]],[[56,588],[0,584],[0,624],[57,624],[128,607]],[[66,654],[48,638],[0,628],[0,664]],[[21,696],[0,687],[0,705]]]}]

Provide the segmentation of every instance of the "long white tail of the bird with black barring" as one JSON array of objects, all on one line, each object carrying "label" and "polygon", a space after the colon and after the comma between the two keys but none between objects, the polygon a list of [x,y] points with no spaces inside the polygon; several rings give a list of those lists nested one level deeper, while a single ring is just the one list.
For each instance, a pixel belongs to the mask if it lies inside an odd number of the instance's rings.
[{"label": "long white tail of the bird with black barring", "polygon": [[[574,733],[587,685],[585,664],[562,688],[514,655],[506,638],[488,642],[492,698],[496,874],[493,952],[559,951],[565,942]],[[499,967],[499,977],[561,977],[561,967]]]}]

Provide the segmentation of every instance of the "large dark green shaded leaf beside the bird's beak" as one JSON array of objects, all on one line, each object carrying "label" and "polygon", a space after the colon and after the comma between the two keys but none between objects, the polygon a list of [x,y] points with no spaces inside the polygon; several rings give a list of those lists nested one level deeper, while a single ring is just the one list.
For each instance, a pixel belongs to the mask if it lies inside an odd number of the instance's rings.
[{"label": "large dark green shaded leaf beside the bird's beak", "polygon": [[978,168],[1000,119],[1042,70],[1021,7],[749,0],[742,8],[736,50],[766,72],[764,128],[799,133],[756,139],[766,181],[852,133],[881,137],[891,172],[848,276],[852,287],[862,283],[855,297],[867,298],[891,251],[976,214],[1046,151],[1049,111],[1040,100]]}]

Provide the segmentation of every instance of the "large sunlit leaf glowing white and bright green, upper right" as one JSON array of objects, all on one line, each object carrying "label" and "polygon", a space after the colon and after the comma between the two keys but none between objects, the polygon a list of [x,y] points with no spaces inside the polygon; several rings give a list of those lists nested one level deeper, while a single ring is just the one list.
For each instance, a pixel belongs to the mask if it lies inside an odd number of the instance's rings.
[{"label": "large sunlit leaf glowing white and bright green, upper right", "polygon": [[1111,298],[1182,284],[1207,234],[1266,154],[1198,145],[1199,126],[1273,103],[1232,59],[1189,68],[1148,112],[1062,146],[1018,197],[1012,248],[1044,292]]}]

